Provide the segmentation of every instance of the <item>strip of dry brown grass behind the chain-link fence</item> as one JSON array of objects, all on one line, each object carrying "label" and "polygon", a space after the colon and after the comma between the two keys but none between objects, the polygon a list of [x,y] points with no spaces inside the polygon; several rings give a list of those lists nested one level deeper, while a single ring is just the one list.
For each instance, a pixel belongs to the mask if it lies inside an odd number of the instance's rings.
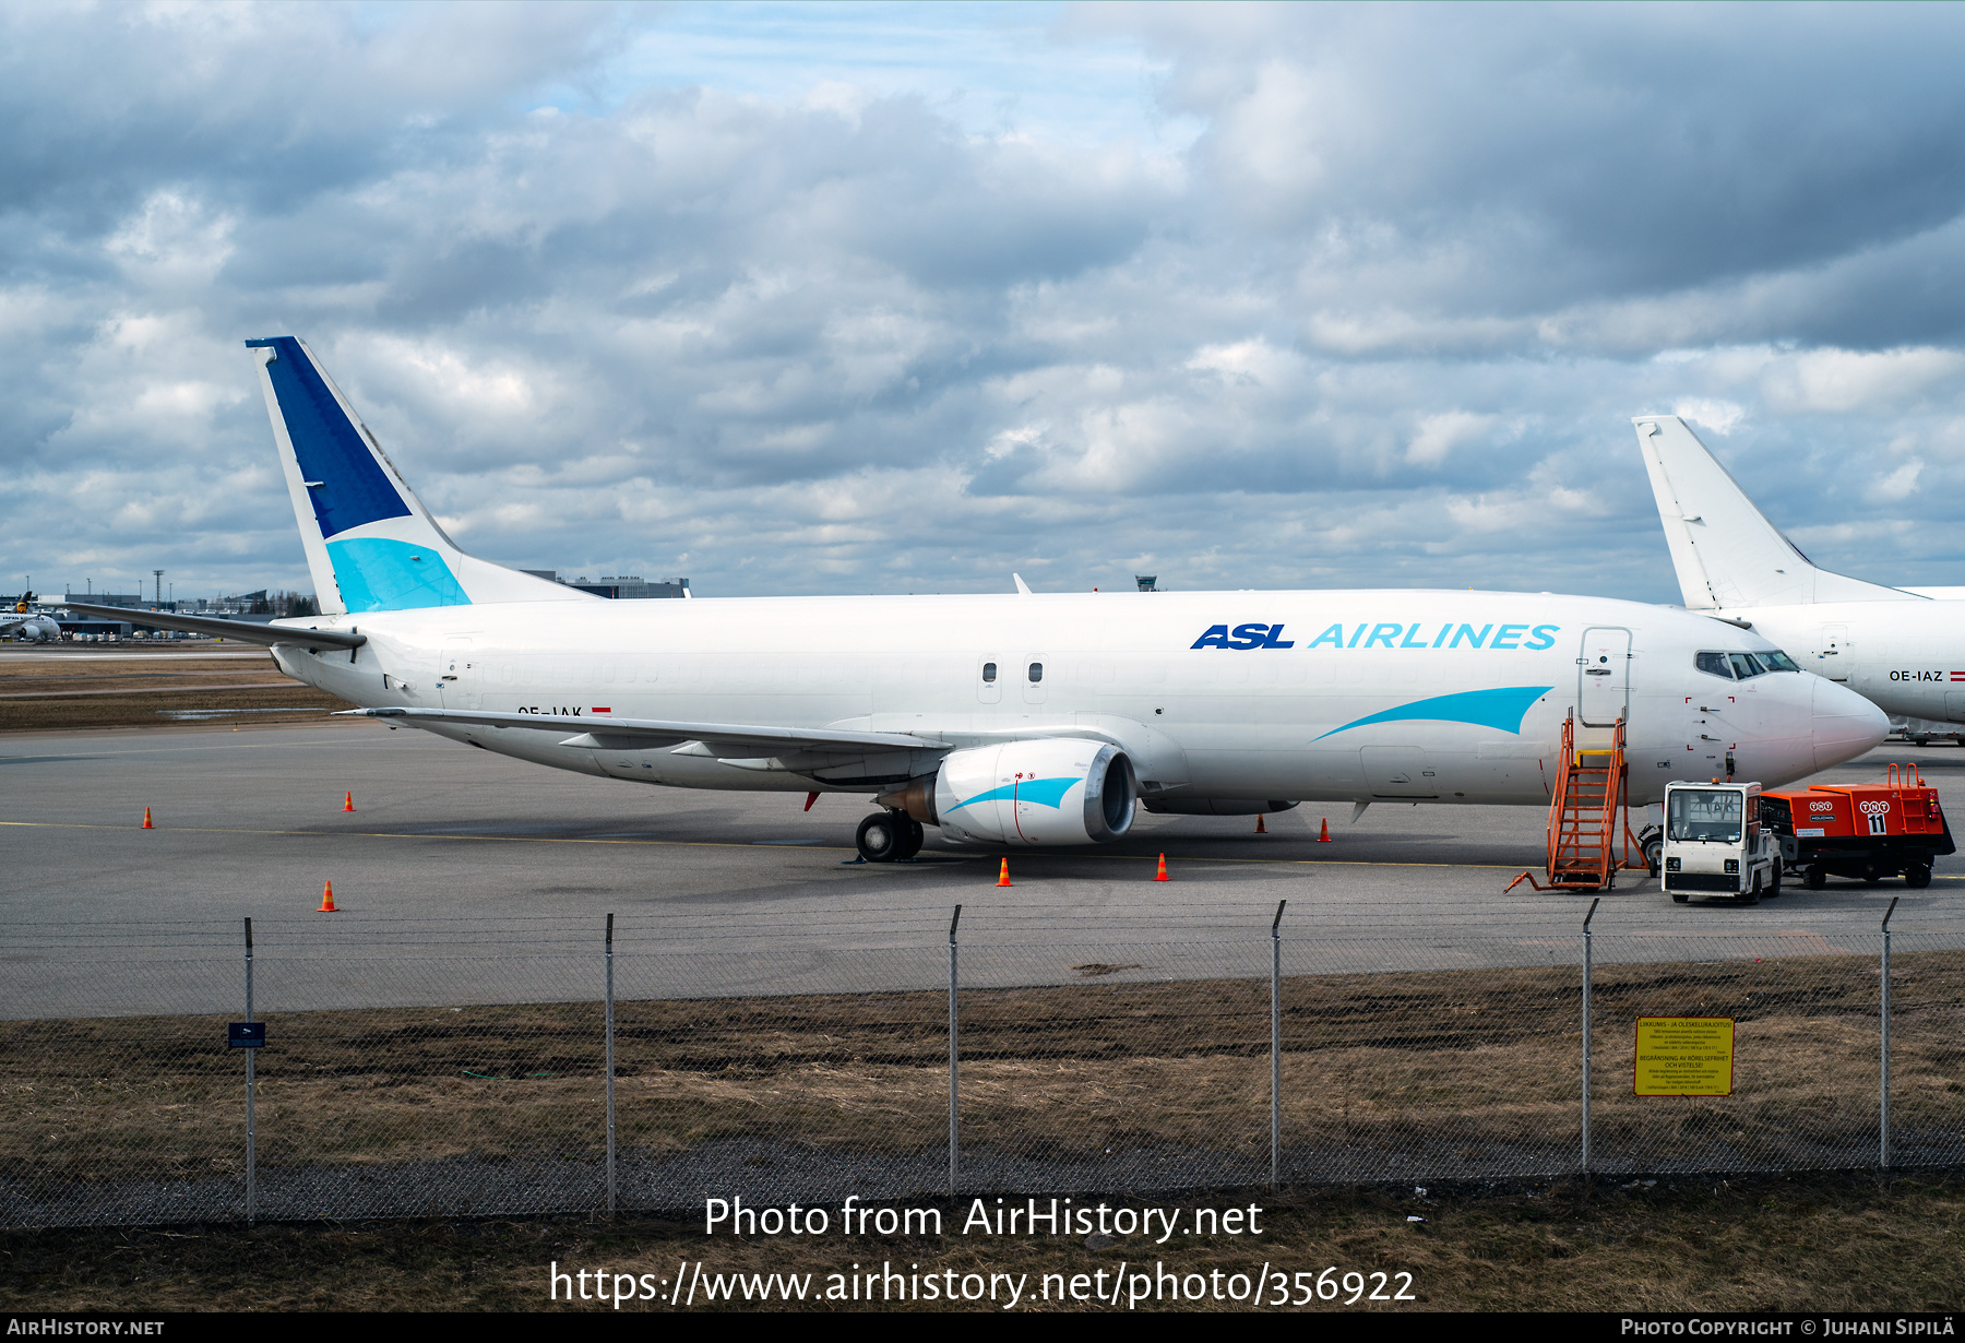
[{"label": "strip of dry brown grass behind the chain-link fence", "polygon": [[[1965,1152],[1965,954],[1896,965],[1896,1129],[1949,1135]],[[1857,958],[1600,969],[1598,1152],[1651,1168],[1713,1144],[1802,1166],[1869,1160],[1875,997],[1873,965]],[[1267,1152],[1260,981],[965,991],[961,1007],[965,1144],[1061,1160]],[[1466,1170],[1574,1150],[1574,971],[1287,979],[1283,1009],[1289,1148],[1425,1152]],[[1739,1021],[1735,1095],[1631,1095],[1631,1021],[1662,1011]],[[939,1146],[945,1022],[939,993],[621,1003],[621,1144]],[[236,1170],[244,1064],[222,1040],[218,1019],[0,1022],[0,1172],[96,1182]],[[275,1015],[269,1040],[257,1093],[267,1166],[582,1156],[605,1142],[595,1003]],[[1442,1152],[1474,1164],[1442,1166]],[[1372,1166],[1330,1174],[1346,1170]]]}]

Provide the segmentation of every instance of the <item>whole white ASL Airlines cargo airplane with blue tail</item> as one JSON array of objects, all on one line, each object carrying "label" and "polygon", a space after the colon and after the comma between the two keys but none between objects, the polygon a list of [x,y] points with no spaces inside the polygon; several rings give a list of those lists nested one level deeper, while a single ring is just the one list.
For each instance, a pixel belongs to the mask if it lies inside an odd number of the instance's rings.
[{"label": "whole white ASL Airlines cargo airplane with blue tail", "polygon": [[[1798,779],[1882,714],[1767,639],[1635,602],[1193,592],[609,602],[458,551],[291,336],[250,340],[322,615],[226,631],[369,718],[609,779],[863,792],[870,861],[1118,840],[1153,812],[1546,804],[1562,724],[1631,794]],[[224,621],[143,615],[161,627]],[[1706,659],[1727,682],[1717,731]]]}]

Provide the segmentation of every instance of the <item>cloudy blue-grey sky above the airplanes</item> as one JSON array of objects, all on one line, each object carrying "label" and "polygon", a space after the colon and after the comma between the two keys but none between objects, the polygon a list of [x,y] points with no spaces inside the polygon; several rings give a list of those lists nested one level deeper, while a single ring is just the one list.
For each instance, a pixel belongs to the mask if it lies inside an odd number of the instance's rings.
[{"label": "cloudy blue-grey sky above the airplanes", "polygon": [[1629,417],[1965,584],[1965,8],[0,4],[0,590],[309,588],[248,336],[466,549],[1676,600]]}]

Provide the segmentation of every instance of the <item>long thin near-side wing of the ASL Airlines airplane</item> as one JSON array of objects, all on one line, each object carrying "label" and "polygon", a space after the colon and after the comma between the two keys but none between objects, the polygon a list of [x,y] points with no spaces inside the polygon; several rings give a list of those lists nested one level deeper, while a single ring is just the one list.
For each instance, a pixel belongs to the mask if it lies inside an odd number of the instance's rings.
[{"label": "long thin near-side wing of the ASL Airlines airplane", "polygon": [[336,718],[385,718],[430,728],[438,724],[464,728],[529,728],[533,731],[572,731],[562,745],[586,745],[597,751],[656,751],[684,741],[702,741],[719,759],[758,759],[770,755],[819,753],[865,755],[872,751],[947,751],[943,741],[900,731],[843,731],[835,728],[770,728],[757,724],[686,724],[654,718],[574,718],[572,714],[505,714],[491,710],[452,708],[356,708]]}]

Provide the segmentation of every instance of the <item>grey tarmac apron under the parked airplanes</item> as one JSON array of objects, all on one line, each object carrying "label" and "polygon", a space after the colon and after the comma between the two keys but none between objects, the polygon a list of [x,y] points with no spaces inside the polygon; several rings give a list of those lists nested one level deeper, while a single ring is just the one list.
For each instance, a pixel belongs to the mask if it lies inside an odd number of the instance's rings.
[{"label": "grey tarmac apron under the parked airplanes", "polygon": [[[1965,806],[1959,747],[1892,743],[1822,779],[1902,759]],[[346,792],[356,812],[340,810]],[[1379,802],[1354,824],[1348,804],[1309,802],[1262,836],[1252,816],[1142,814],[1116,846],[1010,853],[1014,885],[996,887],[998,851],[929,830],[920,861],[855,863],[867,800],[802,806],[588,779],[350,720],[6,735],[0,1017],[232,1011],[242,916],[261,1003],[283,1011],[550,1001],[588,979],[597,993],[609,912],[623,995],[727,995],[937,987],[957,903],[965,985],[1262,975],[1283,899],[1293,969],[1572,962],[1590,905],[1501,895],[1541,865],[1541,808]],[[314,912],[326,881],[338,914]],[[1892,895],[1892,928],[1965,944],[1965,855],[1939,859],[1928,891],[1790,885],[1753,908],[1670,905],[1625,873],[1596,932],[1605,956],[1617,938],[1649,958],[1713,934],[1861,952]]]}]

